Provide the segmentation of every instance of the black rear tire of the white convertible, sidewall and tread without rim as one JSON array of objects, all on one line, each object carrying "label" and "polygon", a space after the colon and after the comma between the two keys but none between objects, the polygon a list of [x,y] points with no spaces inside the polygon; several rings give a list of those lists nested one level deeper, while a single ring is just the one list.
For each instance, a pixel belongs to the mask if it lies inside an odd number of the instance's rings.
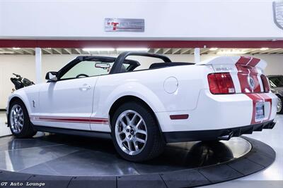
[{"label": "black rear tire of the white convertible, sidewall and tread without rim", "polygon": [[[146,144],[144,144],[144,148],[141,150],[141,152],[137,153],[136,155],[129,155],[128,153],[122,151],[119,144],[117,143],[118,141],[115,135],[115,126],[117,118],[120,116],[121,113],[128,110],[139,113],[139,115],[141,115],[141,117],[143,118],[144,123],[146,124],[147,141]],[[139,102],[127,102],[117,108],[111,120],[111,134],[117,153],[119,153],[120,156],[122,156],[122,158],[125,158],[127,161],[148,161],[160,155],[166,145],[166,142],[163,139],[163,135],[159,130],[155,115],[149,110],[147,106]]]}]

